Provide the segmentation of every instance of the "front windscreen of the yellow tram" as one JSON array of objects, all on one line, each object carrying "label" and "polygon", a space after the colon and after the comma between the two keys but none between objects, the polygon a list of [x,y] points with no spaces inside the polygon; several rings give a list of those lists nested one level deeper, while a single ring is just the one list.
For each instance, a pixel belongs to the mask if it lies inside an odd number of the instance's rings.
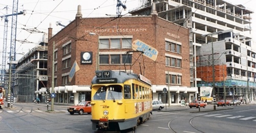
[{"label": "front windscreen of the yellow tram", "polygon": [[122,99],[122,86],[109,85],[100,87],[93,95],[93,100],[119,100]]}]

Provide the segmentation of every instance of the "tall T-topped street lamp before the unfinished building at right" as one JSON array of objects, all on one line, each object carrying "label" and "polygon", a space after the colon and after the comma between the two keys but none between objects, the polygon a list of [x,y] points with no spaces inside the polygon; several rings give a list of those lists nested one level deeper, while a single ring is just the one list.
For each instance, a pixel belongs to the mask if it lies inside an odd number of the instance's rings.
[{"label": "tall T-topped street lamp before the unfinished building at right", "polygon": [[[215,34],[221,34],[222,31],[219,31],[219,32],[213,32],[213,33],[209,33],[209,34],[204,34],[202,35],[202,37],[207,37],[208,35],[215,35]],[[215,96],[215,69],[214,69],[214,57],[213,57],[213,42],[212,42],[212,91],[213,91],[213,94]],[[213,110],[216,110],[216,104],[213,105]]]}]

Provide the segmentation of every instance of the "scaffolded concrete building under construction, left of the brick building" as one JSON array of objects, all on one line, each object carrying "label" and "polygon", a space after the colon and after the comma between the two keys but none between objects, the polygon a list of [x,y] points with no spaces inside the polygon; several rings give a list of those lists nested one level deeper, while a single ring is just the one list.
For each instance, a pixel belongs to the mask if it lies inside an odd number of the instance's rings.
[{"label": "scaffolded concrete building under construction, left of the brick building", "polygon": [[36,96],[44,101],[43,95],[35,95],[35,91],[47,84],[47,51],[48,36],[31,49],[18,61],[13,84],[13,94],[17,102],[32,102]]}]

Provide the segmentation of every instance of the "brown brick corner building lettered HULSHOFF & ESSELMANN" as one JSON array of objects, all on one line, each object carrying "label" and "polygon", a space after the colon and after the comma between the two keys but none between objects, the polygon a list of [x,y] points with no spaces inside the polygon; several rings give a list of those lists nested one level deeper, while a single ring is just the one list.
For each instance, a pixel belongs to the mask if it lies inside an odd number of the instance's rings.
[{"label": "brown brick corner building lettered HULSHOFF & ESSELMANN", "polygon": [[[170,103],[176,104],[182,97],[194,98],[197,91],[196,87],[190,88],[188,76],[189,30],[158,17],[154,11],[150,16],[82,18],[78,10],[75,20],[53,36],[49,28],[48,35],[47,87],[52,86],[54,63],[55,102],[77,104],[90,100],[90,84],[98,60],[100,70],[141,73],[151,80],[153,98],[164,103],[168,100],[164,100],[163,88],[170,90]],[[135,40],[149,45],[137,46],[143,56],[140,52],[126,54],[136,50]],[[155,61],[148,58],[151,54],[157,54]],[[129,64],[125,58],[131,60],[132,67],[124,67]],[[39,93],[45,93],[45,89]]]}]

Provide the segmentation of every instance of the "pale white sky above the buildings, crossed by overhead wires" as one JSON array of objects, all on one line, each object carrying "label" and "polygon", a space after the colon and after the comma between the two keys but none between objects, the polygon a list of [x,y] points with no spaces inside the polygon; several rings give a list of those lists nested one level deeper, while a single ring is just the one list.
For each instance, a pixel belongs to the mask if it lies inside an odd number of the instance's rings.
[{"label": "pale white sky above the buildings, crossed by overhead wires", "polygon": [[[25,15],[17,15],[17,33],[16,40],[27,40],[31,43],[20,43],[16,41],[16,61],[22,58],[23,53],[29,52],[38,43],[41,42],[44,33],[48,32],[49,23],[52,25],[53,34],[58,33],[63,26],[57,26],[56,22],[61,22],[66,26],[76,17],[77,6],[81,5],[82,17],[108,17],[116,15],[116,0],[15,0],[18,1],[18,12],[26,10]],[[136,9],[143,0],[121,0],[127,7],[126,11],[122,10],[122,15],[129,15],[129,10]],[[255,8],[256,0],[226,0],[233,4],[242,4],[252,10]],[[12,14],[13,0],[0,0],[0,16],[6,14],[5,7],[8,7],[7,14]],[[120,8],[122,9],[122,7]],[[252,22],[256,19],[256,13],[252,14]],[[8,17],[8,36],[7,49],[9,52],[11,44],[11,23],[12,17]],[[253,25],[256,33],[256,21]],[[24,29],[36,29],[41,33],[29,33]],[[43,33],[44,32],[44,33]],[[2,61],[3,52],[3,33],[4,19],[0,21],[0,61]],[[254,35],[256,38],[256,35]],[[256,40],[256,39],[255,39]],[[7,55],[8,56],[8,55]],[[7,61],[9,59],[6,59]]]}]

